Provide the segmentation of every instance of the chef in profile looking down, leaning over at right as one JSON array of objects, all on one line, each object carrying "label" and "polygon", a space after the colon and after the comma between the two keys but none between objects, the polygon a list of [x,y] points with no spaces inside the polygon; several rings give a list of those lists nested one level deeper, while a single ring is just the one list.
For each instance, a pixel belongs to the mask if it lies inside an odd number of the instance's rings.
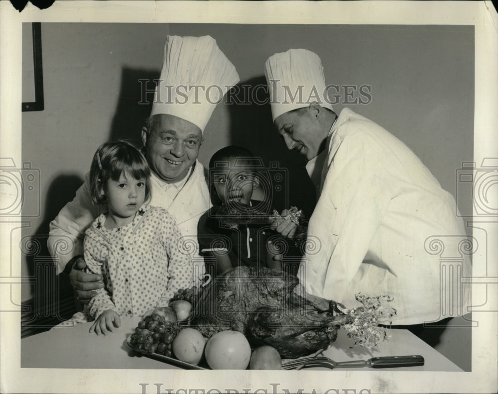
[{"label": "chef in profile looking down, leaning over at right", "polygon": [[467,313],[470,289],[459,273],[470,277],[469,256],[445,263],[448,275],[454,269],[449,284],[439,255],[424,247],[432,236],[444,236],[449,249],[465,239],[454,198],[396,137],[351,109],[333,111],[315,53],[274,54],[265,76],[273,124],[288,149],[306,157],[317,189],[308,240],[319,246],[298,272],[306,290],[346,307],[359,305],[358,293],[391,296],[395,325]]}]

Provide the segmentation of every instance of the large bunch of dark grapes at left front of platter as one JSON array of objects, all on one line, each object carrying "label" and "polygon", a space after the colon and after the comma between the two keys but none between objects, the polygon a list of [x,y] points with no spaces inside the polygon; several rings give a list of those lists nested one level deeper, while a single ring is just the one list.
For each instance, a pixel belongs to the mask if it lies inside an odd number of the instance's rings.
[{"label": "large bunch of dark grapes at left front of platter", "polygon": [[154,313],[140,320],[129,341],[138,353],[159,353],[171,357],[171,343],[181,329],[159,313]]}]

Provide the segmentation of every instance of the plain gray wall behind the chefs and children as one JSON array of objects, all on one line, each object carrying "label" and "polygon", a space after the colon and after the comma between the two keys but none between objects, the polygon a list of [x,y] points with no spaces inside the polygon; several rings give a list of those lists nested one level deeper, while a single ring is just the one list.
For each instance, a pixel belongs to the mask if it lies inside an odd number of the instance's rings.
[{"label": "plain gray wall behind the chefs and children", "polygon": [[[263,65],[273,53],[316,52],[328,84],[371,86],[369,104],[347,106],[402,140],[456,195],[456,171],[473,159],[473,26],[43,23],[45,109],[22,114],[22,159],[40,170],[41,215],[29,219],[23,237],[46,236],[100,144],[123,137],[139,142],[150,107],[138,105],[138,79],[159,76],[167,34],[213,36],[241,83],[252,86],[264,83]],[[30,49],[23,53],[30,56]],[[335,105],[336,112],[344,106]],[[278,161],[291,174],[290,202],[311,212],[304,161],[277,138],[268,105],[220,104],[204,138],[204,165],[228,144]],[[459,195],[457,202],[468,211],[472,196]],[[21,264],[28,274],[32,262]],[[23,287],[22,300],[31,297],[31,287]]]}]

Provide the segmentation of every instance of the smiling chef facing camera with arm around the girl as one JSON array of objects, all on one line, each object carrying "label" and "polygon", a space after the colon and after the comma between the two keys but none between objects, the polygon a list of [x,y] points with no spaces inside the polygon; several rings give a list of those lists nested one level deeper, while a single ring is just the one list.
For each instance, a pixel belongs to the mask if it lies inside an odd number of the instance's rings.
[{"label": "smiling chef facing camera with arm around the girl", "polygon": [[[212,37],[167,37],[160,85],[141,132],[143,153],[152,170],[150,205],[167,209],[182,236],[196,245],[197,222],[211,207],[204,168],[197,161],[202,133],[216,103],[238,82],[234,65]],[[210,86],[217,88],[209,89],[206,96],[199,86],[206,91]],[[50,223],[48,247],[57,272],[70,276],[84,303],[95,296],[93,290],[104,287],[102,278],[84,272],[82,242],[85,230],[104,209],[92,202],[87,177],[76,197]],[[194,272],[202,275],[202,259],[194,259],[194,264]]]}]

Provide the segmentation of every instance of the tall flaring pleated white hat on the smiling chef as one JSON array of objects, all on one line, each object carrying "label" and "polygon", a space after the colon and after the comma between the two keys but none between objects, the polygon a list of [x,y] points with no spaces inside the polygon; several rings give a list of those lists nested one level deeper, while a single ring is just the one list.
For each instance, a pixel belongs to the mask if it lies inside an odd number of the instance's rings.
[{"label": "tall flaring pleated white hat on the smiling chef", "polygon": [[175,115],[204,131],[216,104],[238,82],[213,37],[167,36],[151,115]]}]

